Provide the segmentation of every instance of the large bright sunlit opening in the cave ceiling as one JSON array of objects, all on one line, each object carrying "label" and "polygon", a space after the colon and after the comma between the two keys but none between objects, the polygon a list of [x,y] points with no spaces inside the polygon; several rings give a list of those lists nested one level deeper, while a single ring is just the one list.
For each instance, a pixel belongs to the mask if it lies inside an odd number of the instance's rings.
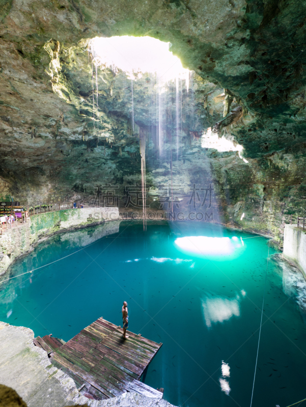
[{"label": "large bright sunlit opening in the cave ceiling", "polygon": [[115,66],[131,79],[138,72],[156,73],[164,81],[184,77],[188,88],[190,71],[183,68],[180,59],[169,50],[170,45],[147,36],[95,37],[91,41],[98,65]]}]

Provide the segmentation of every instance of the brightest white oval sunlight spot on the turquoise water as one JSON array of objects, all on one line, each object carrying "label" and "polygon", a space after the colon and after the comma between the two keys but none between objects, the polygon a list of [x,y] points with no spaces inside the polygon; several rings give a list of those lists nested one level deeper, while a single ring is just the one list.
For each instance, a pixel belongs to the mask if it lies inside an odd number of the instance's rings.
[{"label": "brightest white oval sunlight spot on the turquoise water", "polygon": [[242,248],[236,236],[232,239],[212,238],[208,236],[185,236],[183,238],[177,238],[175,244],[184,252],[208,257],[229,257],[233,254],[238,254]]}]

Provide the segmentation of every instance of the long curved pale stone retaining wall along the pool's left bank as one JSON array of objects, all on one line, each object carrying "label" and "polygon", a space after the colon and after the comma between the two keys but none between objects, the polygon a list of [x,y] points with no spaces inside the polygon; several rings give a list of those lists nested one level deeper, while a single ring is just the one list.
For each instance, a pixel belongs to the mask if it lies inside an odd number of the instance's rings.
[{"label": "long curved pale stone retaining wall along the pool's left bank", "polygon": [[13,227],[0,236],[0,275],[42,239],[60,231],[118,219],[118,208],[68,209],[33,215],[22,226]]}]

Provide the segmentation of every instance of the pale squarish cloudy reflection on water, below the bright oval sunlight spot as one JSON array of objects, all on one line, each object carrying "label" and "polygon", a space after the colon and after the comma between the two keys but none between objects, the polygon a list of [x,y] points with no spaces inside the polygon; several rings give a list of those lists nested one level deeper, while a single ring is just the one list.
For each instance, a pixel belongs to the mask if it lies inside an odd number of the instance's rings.
[{"label": "pale squarish cloudy reflection on water, below the bright oval sunlight spot", "polygon": [[202,299],[202,307],[204,313],[204,321],[207,328],[210,328],[212,323],[228,321],[232,316],[240,315],[240,298],[237,295],[235,298],[228,299],[225,297],[210,297]]}]

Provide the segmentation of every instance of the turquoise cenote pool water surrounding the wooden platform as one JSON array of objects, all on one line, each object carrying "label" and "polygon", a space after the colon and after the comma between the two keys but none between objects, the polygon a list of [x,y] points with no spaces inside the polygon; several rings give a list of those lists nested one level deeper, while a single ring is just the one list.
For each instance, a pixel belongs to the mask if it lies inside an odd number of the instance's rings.
[{"label": "turquoise cenote pool water surrounding the wooden platform", "polygon": [[[175,405],[248,406],[268,240],[201,222],[148,224],[146,232],[121,222],[92,243],[103,227],[58,235],[16,263],[11,276],[84,248],[3,282],[0,320],[67,341],[100,316],[120,325],[126,300],[129,329],[163,343],[148,385]],[[267,270],[253,406],[284,407],[306,397],[306,290],[286,265],[271,258]]]}]

